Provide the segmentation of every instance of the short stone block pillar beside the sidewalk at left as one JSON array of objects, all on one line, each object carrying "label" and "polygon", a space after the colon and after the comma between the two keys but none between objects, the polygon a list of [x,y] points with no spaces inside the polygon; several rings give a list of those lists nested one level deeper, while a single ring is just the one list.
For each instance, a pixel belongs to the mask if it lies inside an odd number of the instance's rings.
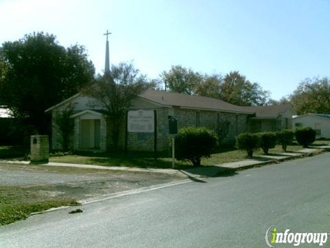
[{"label": "short stone block pillar beside the sidewalk at left", "polygon": [[48,163],[50,158],[50,145],[47,135],[32,135],[31,143],[31,163]]}]

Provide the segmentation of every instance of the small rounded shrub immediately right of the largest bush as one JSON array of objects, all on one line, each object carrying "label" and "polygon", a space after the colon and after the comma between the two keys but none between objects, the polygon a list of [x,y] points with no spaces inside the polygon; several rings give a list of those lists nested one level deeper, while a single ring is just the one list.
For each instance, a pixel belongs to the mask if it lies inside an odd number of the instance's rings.
[{"label": "small rounded shrub immediately right of the largest bush", "polygon": [[258,134],[241,133],[236,136],[236,147],[248,152],[252,157],[254,150],[260,148],[260,136]]}]

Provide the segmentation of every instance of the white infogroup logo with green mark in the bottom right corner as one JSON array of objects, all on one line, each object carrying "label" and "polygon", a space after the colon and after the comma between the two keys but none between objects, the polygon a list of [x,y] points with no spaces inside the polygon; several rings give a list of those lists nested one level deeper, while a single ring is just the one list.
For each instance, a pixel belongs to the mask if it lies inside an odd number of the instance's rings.
[{"label": "white infogroup logo with green mark in the bottom right corner", "polygon": [[265,240],[266,244],[270,248],[274,248],[275,244],[292,244],[297,247],[300,244],[316,244],[319,246],[325,245],[328,240],[328,233],[302,233],[302,232],[290,232],[290,229],[286,229],[283,232],[279,232],[278,229],[272,225],[266,231]]}]

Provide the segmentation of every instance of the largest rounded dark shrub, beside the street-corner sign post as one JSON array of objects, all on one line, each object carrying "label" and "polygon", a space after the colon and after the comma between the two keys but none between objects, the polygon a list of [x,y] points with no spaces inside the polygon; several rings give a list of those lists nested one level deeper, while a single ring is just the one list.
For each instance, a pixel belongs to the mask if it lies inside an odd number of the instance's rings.
[{"label": "largest rounded dark shrub, beside the street-corner sign post", "polygon": [[175,137],[175,157],[201,165],[202,157],[210,157],[217,147],[217,135],[206,127],[184,127]]}]

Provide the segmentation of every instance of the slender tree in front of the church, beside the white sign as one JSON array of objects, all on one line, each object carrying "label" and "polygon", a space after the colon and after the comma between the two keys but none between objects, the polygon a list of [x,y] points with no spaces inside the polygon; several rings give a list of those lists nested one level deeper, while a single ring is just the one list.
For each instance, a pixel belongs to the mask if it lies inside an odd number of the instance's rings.
[{"label": "slender tree in front of the church, beside the white sign", "polygon": [[92,107],[101,104],[107,119],[111,144],[107,150],[117,150],[120,126],[124,121],[131,101],[149,87],[146,76],[140,74],[132,63],[113,65],[109,74],[99,76],[96,82],[85,87],[83,94],[96,101],[89,103]]}]

